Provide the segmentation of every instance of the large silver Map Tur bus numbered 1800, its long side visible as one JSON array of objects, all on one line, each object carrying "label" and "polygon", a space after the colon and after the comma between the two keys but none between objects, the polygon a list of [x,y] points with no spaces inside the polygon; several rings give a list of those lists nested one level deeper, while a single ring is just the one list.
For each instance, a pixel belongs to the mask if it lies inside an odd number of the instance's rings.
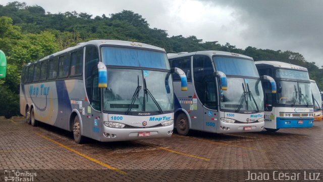
[{"label": "large silver Map Tur bus numbered 1800, its long side visible", "polygon": [[91,40],[23,67],[20,113],[102,141],[169,137],[173,133],[172,71],[164,49]]}]

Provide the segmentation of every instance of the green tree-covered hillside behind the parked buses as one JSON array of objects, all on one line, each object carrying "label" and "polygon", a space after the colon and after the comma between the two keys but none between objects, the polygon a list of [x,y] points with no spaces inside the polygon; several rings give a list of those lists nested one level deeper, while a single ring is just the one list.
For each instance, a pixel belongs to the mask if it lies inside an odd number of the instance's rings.
[{"label": "green tree-covered hillside behind the parked buses", "polygon": [[255,61],[283,61],[306,67],[310,78],[323,89],[323,69],[292,51],[239,49],[228,42],[224,45],[215,40],[203,42],[194,35],[169,36],[167,30],[150,28],[145,18],[127,10],[93,17],[76,11],[51,14],[37,5],[12,2],[0,5],[0,50],[8,61],[7,78],[0,80],[0,116],[19,114],[19,84],[24,64],[92,39],[138,41],[164,48],[168,53],[216,50],[243,54]]}]

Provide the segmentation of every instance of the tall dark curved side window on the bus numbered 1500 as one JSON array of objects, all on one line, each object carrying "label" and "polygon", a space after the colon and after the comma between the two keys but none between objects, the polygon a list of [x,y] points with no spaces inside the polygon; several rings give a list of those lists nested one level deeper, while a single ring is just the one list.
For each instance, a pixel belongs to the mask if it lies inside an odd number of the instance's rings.
[{"label": "tall dark curved side window on the bus numbered 1500", "polygon": [[193,76],[196,94],[203,105],[217,109],[217,87],[209,57],[194,56]]}]

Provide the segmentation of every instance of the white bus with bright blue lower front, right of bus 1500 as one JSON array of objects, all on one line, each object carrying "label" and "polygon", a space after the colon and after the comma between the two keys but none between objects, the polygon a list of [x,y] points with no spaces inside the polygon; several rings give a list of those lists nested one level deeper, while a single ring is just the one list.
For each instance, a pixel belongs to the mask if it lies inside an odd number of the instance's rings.
[{"label": "white bus with bright blue lower front, right of bus 1500", "polygon": [[256,61],[259,75],[270,75],[277,83],[277,93],[262,82],[264,92],[265,129],[312,127],[313,102],[307,69],[278,61]]}]

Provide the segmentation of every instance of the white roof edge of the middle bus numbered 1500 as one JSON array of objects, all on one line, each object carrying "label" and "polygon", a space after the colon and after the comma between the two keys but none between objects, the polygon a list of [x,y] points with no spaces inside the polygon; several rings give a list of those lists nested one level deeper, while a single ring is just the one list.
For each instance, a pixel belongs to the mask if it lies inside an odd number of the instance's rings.
[{"label": "white roof edge of the middle bus numbered 1500", "polygon": [[253,60],[249,56],[236,54],[236,53],[230,53],[230,52],[224,52],[224,51],[197,51],[197,52],[191,52],[191,53],[178,53],[178,54],[170,53],[170,54],[167,54],[168,59],[180,58],[180,57],[185,57],[185,56],[193,56],[193,55],[206,55],[209,57],[212,57],[213,55],[234,56],[234,57]]}]

